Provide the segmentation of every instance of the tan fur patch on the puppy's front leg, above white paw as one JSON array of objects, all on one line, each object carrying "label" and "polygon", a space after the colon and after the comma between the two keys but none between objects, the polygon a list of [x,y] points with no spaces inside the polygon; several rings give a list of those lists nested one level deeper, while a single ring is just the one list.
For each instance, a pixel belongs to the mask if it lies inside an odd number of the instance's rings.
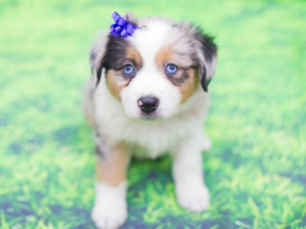
[{"label": "tan fur patch on the puppy's front leg, above white paw", "polygon": [[96,176],[98,182],[106,182],[113,187],[119,185],[125,180],[129,160],[130,155],[124,144],[114,147],[108,158],[97,157]]}]

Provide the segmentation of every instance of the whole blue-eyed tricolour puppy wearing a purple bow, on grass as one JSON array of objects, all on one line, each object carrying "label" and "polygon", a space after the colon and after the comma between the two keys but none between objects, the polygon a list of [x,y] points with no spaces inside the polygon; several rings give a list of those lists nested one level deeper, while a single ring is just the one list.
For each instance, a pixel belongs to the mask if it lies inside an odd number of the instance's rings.
[{"label": "whole blue-eyed tricolour puppy wearing a purple bow, on grass", "polygon": [[93,76],[83,96],[97,156],[92,219],[98,228],[121,226],[131,156],[165,153],[173,161],[177,201],[203,211],[209,204],[201,152],[211,145],[203,124],[216,67],[213,38],[188,22],[116,13],[113,18],[111,34],[90,51]]}]

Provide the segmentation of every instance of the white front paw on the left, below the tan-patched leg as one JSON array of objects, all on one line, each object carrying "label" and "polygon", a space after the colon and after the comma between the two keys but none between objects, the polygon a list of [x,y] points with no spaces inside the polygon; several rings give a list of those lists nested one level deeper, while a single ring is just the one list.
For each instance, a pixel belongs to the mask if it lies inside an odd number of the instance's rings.
[{"label": "white front paw on the left, below the tan-patched leg", "polygon": [[108,203],[96,203],[91,212],[92,221],[99,229],[115,229],[123,225],[127,218],[125,203],[114,201]]}]

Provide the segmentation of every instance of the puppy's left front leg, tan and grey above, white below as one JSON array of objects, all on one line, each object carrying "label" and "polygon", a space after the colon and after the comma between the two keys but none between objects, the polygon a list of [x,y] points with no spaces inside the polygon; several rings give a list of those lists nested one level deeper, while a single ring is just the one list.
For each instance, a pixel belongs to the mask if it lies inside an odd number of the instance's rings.
[{"label": "puppy's left front leg, tan and grey above, white below", "polygon": [[118,228],[127,218],[125,171],[130,155],[124,144],[96,142],[96,198],[91,217],[100,229]]}]

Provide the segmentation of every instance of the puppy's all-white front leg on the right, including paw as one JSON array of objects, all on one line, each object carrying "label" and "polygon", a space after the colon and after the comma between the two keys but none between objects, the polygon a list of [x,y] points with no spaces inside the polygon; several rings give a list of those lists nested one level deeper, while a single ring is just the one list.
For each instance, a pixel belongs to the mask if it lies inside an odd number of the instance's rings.
[{"label": "puppy's all-white front leg on the right, including paw", "polygon": [[201,212],[209,205],[209,191],[202,171],[203,141],[207,141],[207,137],[200,133],[182,142],[173,152],[172,174],[177,201],[192,212]]}]

